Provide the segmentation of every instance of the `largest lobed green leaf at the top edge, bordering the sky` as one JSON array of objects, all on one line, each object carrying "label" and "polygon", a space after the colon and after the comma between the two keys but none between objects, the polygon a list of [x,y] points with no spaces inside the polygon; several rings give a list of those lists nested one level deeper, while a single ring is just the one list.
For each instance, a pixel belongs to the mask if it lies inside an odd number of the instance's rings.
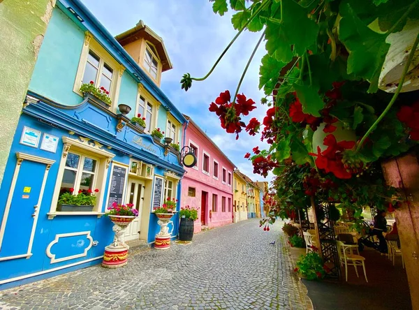
[{"label": "largest lobed green leaf at the top edge, bordering the sky", "polygon": [[[296,54],[302,55],[307,47],[316,43],[318,24],[307,18],[307,9],[293,0],[282,0],[280,6],[272,5],[274,15],[266,21],[266,50],[279,60],[289,58],[291,45]],[[278,51],[278,52],[277,52]]]}]

